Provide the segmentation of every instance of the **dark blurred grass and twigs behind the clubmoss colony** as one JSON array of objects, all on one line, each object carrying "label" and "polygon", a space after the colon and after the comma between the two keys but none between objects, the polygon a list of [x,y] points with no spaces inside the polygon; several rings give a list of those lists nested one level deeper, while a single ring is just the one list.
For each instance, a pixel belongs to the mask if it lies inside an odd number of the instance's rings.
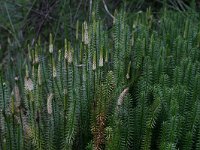
[{"label": "dark blurred grass and twigs behind the clubmoss colony", "polygon": [[[92,3],[91,3],[92,2]],[[175,11],[198,11],[200,0],[0,0],[0,68],[18,53],[26,53],[27,44],[34,45],[38,38],[48,41],[49,33],[59,46],[64,37],[73,39],[76,21],[89,21],[91,10],[98,7],[99,15],[108,29],[111,14],[123,8],[133,12],[151,7],[156,14],[163,7]],[[92,4],[92,5],[91,5]],[[98,5],[98,6],[95,6]],[[130,17],[131,18],[131,17]]]}]

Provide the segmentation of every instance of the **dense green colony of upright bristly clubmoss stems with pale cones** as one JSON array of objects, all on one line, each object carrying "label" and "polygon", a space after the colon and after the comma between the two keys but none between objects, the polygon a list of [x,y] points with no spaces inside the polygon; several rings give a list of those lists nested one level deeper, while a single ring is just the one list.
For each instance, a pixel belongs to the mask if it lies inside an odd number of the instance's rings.
[{"label": "dense green colony of upright bristly clubmoss stems with pale cones", "polygon": [[199,150],[198,16],[157,18],[95,11],[59,50],[27,46],[1,74],[0,149]]}]

